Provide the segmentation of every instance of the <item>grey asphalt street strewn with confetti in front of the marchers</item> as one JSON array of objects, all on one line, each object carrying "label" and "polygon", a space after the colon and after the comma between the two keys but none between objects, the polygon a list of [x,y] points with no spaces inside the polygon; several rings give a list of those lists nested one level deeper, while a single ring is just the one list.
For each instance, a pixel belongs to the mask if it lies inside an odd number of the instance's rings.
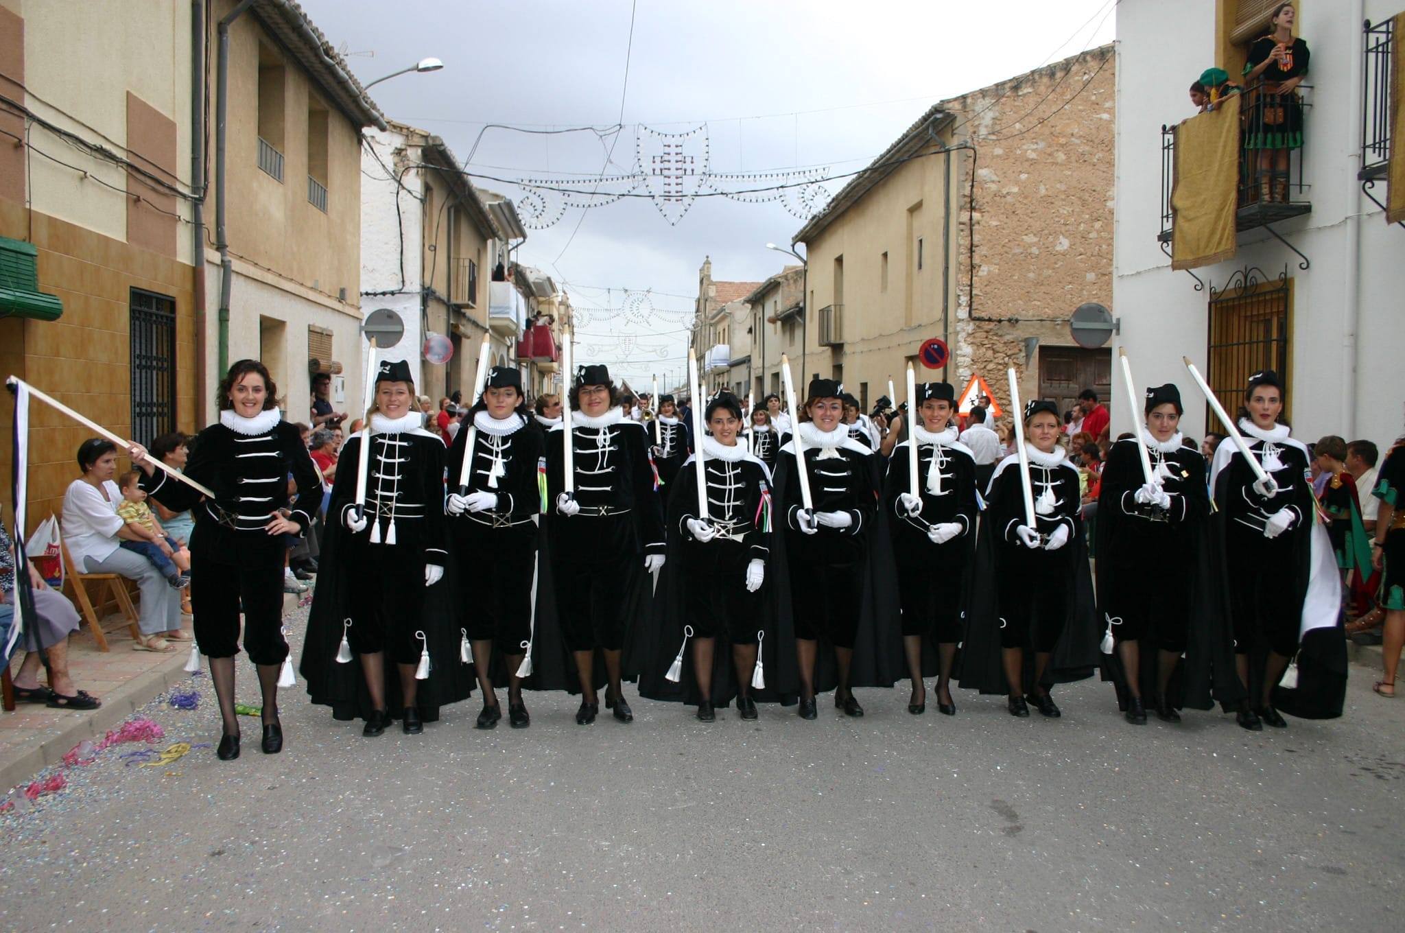
[{"label": "grey asphalt street strewn with confetti in front of the marchers", "polygon": [[[582,728],[527,694],[530,729],[479,732],[475,694],[364,739],[299,683],[282,755],[251,719],[233,763],[112,746],[0,815],[0,929],[1395,929],[1405,705],[1352,674],[1342,719],[1263,733],[1131,726],[1085,681],[1059,721],[960,693],[913,717],[899,687],[863,719],[638,700]],[[191,686],[198,710],[149,707],[157,748],[218,738]]]}]

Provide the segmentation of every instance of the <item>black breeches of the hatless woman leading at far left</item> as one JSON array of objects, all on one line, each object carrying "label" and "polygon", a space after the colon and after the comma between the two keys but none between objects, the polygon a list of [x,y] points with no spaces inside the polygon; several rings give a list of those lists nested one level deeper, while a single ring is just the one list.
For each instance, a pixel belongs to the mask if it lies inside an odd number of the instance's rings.
[{"label": "black breeches of the hatless woman leading at far left", "polygon": [[288,642],[282,638],[282,535],[257,531],[240,534],[235,547],[223,545],[195,526],[190,548],[194,583],[190,600],[200,651],[209,658],[239,653],[242,607],[249,660],[281,665],[288,656]]}]

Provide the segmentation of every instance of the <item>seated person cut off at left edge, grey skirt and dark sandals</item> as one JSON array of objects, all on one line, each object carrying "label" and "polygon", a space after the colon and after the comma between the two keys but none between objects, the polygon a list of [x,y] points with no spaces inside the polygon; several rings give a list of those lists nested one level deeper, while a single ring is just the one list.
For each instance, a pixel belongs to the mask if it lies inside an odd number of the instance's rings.
[{"label": "seated person cut off at left edge, grey skirt and dark sandals", "polygon": [[[79,627],[79,614],[73,603],[62,593],[55,593],[44,582],[39,572],[30,565],[30,583],[34,586],[34,614],[25,622],[24,660],[14,674],[14,698],[20,703],[42,703],[55,710],[97,710],[103,703],[84,690],[73,686],[69,676],[69,634]],[[7,625],[14,615],[14,544],[0,523],[0,617]],[[49,686],[39,686],[42,658],[48,652]]]}]

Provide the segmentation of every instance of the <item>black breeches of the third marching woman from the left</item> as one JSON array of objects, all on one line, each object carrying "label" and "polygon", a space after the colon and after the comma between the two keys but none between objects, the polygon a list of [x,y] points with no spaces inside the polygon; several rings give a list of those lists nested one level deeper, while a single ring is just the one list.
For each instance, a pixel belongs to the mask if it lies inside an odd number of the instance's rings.
[{"label": "black breeches of the third marching woman from the left", "polygon": [[492,641],[493,651],[521,655],[531,641],[537,585],[537,526],[492,528],[472,518],[451,518],[457,579],[462,580],[458,625],[472,641]]}]

